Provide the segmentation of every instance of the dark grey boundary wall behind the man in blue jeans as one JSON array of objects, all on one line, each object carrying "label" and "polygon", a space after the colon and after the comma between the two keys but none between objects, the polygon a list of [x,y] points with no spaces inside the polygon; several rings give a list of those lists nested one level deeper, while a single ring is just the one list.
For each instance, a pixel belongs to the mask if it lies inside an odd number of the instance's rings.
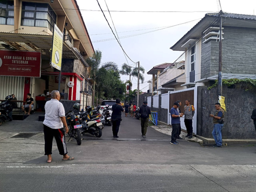
[{"label": "dark grey boundary wall behind the man in blue jeans", "polygon": [[[234,89],[223,87],[226,112],[222,130],[223,139],[255,139],[256,132],[250,118],[256,106],[256,89],[245,91],[239,85]],[[212,138],[214,104],[218,101],[217,88],[208,90],[205,86],[198,87],[197,134]]]}]

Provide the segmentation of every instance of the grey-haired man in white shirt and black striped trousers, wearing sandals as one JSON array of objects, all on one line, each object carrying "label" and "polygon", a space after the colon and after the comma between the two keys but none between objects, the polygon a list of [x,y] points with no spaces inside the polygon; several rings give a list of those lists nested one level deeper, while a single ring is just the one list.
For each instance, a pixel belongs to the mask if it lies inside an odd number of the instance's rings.
[{"label": "grey-haired man in white shirt and black striped trousers, wearing sandals", "polygon": [[[68,125],[65,118],[65,110],[60,102],[60,92],[52,91],[52,99],[47,101],[44,117],[44,151],[47,155],[47,163],[52,162],[52,140],[56,140],[60,155],[63,155],[62,160],[73,160],[74,157],[68,156],[68,151],[65,142],[65,133],[68,133]],[[63,124],[66,131],[63,130]]]}]

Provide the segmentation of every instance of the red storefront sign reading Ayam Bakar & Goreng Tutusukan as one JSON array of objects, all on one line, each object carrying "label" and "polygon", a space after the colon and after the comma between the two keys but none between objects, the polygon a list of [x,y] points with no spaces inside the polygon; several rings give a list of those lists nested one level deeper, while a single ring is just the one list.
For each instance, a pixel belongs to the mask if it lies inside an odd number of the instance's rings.
[{"label": "red storefront sign reading Ayam Bakar & Goreng Tutusukan", "polygon": [[0,50],[0,75],[40,77],[41,52]]}]

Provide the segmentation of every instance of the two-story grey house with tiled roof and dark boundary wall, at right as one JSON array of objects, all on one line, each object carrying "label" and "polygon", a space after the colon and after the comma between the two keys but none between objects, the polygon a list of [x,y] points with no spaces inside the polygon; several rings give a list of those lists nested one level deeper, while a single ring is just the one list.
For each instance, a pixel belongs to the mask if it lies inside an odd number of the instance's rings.
[{"label": "two-story grey house with tiled roof and dark boundary wall, at right", "polygon": [[[212,137],[214,103],[218,101],[215,88],[218,79],[220,16],[222,17],[222,79],[256,79],[256,16],[243,14],[206,14],[171,49],[185,52],[186,82],[181,86],[190,91],[172,94],[170,105],[177,99],[190,99],[196,106],[194,132]],[[186,91],[186,89],[184,91]],[[243,86],[223,87],[226,104],[223,138],[254,138],[250,115],[255,108],[255,89]],[[182,100],[184,102],[184,100]],[[182,121],[182,120],[181,120]]]}]

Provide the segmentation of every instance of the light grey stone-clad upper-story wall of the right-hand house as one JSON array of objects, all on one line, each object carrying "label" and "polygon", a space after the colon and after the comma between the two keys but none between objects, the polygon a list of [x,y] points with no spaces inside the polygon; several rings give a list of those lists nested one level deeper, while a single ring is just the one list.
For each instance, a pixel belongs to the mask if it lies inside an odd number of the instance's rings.
[{"label": "light grey stone-clad upper-story wall of the right-hand house", "polygon": [[[224,27],[222,41],[222,72],[255,74],[256,29]],[[202,43],[201,78],[218,74],[219,42]]]}]

